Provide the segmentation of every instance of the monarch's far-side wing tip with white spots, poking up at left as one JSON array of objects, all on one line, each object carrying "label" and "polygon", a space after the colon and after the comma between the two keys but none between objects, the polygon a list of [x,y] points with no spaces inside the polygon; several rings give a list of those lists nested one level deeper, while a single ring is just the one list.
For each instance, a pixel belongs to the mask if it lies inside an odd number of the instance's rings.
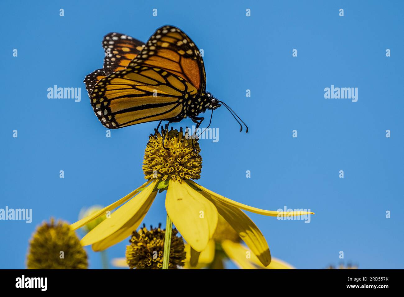
[{"label": "monarch's far-side wing tip with white spots, poking up at left", "polygon": [[104,36],[102,46],[105,51],[104,72],[123,70],[142,50],[144,42],[121,33],[109,33]]}]

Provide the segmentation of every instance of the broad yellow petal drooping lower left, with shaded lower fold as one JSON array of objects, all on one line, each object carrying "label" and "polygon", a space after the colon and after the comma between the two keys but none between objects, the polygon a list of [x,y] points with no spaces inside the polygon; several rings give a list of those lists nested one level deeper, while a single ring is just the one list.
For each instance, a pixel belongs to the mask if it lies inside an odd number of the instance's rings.
[{"label": "broad yellow petal drooping lower left, with shaded lower fold", "polygon": [[144,217],[156,197],[157,191],[154,191],[156,183],[157,180],[154,180],[137,196],[112,213],[110,218],[105,219],[97,227],[88,232],[81,240],[81,244],[84,246],[99,242],[118,232],[120,229],[123,230],[127,226],[135,225]]}]

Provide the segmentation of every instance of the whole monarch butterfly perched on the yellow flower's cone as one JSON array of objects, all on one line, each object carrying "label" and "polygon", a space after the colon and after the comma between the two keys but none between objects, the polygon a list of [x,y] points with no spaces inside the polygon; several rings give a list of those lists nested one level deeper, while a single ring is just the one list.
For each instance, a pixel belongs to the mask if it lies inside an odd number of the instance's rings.
[{"label": "whole monarch butterfly perched on the yellow flower's cone", "polygon": [[198,128],[204,120],[198,115],[206,110],[213,115],[221,104],[245,125],[228,105],[206,92],[202,55],[179,28],[160,27],[145,44],[109,33],[102,44],[103,69],[88,74],[84,82],[93,110],[105,127],[117,129],[158,120],[159,127],[163,120],[179,122],[189,117]]}]

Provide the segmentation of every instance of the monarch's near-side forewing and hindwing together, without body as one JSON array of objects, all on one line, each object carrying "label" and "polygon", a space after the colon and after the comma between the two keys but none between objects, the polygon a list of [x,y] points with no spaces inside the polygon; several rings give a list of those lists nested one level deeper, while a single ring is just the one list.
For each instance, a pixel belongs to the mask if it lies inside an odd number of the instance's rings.
[{"label": "monarch's near-side forewing and hindwing together, without body", "polygon": [[101,123],[115,129],[183,118],[183,100],[204,93],[205,87],[203,60],[195,43],[180,29],[164,26],[126,68],[102,78],[90,99]]}]

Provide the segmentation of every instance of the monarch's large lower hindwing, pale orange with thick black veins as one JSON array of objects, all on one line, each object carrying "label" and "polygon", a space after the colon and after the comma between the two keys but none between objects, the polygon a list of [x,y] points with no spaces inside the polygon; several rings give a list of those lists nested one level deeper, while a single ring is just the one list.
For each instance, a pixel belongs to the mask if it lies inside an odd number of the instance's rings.
[{"label": "monarch's large lower hindwing, pale orange with thick black veins", "polygon": [[100,122],[116,129],[185,117],[183,100],[196,88],[182,77],[157,67],[127,67],[102,78],[90,95]]}]

